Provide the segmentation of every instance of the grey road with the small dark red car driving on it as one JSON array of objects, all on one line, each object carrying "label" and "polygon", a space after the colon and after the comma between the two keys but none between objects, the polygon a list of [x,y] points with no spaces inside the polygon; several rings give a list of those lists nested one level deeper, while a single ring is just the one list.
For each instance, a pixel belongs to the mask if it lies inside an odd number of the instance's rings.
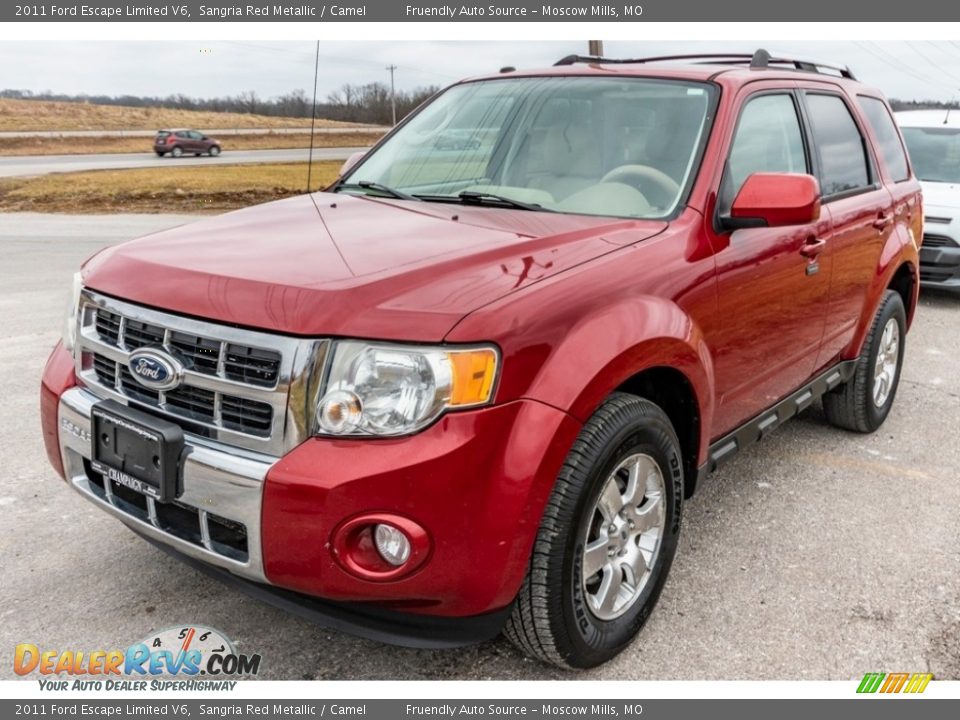
[{"label": "grey road with the small dark red car driving on it", "polygon": [[[314,148],[314,160],[346,160],[363,147]],[[157,157],[149,153],[103,155],[20,155],[0,157],[0,177],[28,177],[81,170],[126,170],[141,167],[237,165],[247,163],[306,162],[308,150],[225,150],[219,157]]]}]

